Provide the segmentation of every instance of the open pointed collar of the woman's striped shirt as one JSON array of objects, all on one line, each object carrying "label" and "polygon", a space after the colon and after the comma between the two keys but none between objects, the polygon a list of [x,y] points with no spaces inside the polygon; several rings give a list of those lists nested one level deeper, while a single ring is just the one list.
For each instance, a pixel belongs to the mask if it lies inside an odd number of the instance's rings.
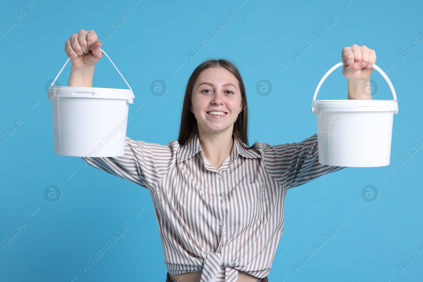
[{"label": "open pointed collar of the woman's striped shirt", "polygon": [[[253,148],[249,149],[244,142],[236,138],[235,134],[232,134],[232,137],[233,147],[231,152],[231,162],[233,162],[238,157],[238,154],[244,156],[245,158],[261,158],[261,155],[259,153],[257,153]],[[201,152],[201,144],[200,138],[197,134],[194,138],[192,138],[190,142],[181,146],[178,154],[178,162],[189,159],[198,152]],[[202,155],[203,153],[201,153],[201,157]]]}]

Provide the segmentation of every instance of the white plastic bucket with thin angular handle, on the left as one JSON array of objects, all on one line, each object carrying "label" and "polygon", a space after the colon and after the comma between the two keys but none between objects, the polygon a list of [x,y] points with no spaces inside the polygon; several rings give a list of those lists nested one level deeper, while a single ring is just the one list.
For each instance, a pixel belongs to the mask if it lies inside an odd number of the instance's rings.
[{"label": "white plastic bucket with thin angular handle, on the left", "polygon": [[[116,70],[125,80],[118,68]],[[135,98],[128,82],[126,85],[129,90],[51,86],[47,99],[52,100],[53,107],[54,153],[80,157],[123,156],[129,104]]]}]

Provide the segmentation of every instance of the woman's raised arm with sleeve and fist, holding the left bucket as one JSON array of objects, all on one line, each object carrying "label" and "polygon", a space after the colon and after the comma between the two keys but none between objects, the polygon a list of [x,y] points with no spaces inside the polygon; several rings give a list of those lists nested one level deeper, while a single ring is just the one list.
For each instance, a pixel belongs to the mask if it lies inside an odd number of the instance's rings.
[{"label": "woman's raised arm with sleeve and fist, holding the left bucket", "polygon": [[[103,55],[100,49],[102,43],[97,39],[94,30],[80,30],[66,41],[65,52],[72,63],[68,86],[92,87],[94,66]],[[177,148],[176,140],[160,145],[126,137],[123,156],[90,155],[82,159],[92,167],[149,189],[168,172]]]}]

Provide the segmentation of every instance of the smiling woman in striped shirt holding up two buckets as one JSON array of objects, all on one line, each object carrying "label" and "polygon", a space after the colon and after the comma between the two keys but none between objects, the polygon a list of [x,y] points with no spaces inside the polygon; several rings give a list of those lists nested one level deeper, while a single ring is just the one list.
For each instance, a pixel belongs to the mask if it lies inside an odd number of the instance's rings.
[{"label": "smiling woman in striped shirt holding up two buckets", "polygon": [[[92,87],[100,46],[93,30],[66,41],[69,86]],[[354,44],[342,57],[348,99],[371,99],[361,85],[369,81],[374,50]],[[247,121],[239,71],[227,60],[207,60],[187,83],[178,140],[159,145],[126,137],[124,156],[82,157],[148,189],[166,281],[267,281],[288,189],[344,168],[319,164],[317,134],[299,143],[248,147]]]}]

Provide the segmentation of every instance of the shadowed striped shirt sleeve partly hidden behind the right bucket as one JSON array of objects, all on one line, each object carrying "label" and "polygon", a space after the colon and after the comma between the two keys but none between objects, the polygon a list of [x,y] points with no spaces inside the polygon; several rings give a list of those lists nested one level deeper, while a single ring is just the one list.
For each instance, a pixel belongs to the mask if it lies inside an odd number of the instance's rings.
[{"label": "shadowed striped shirt sleeve partly hidden behind the right bucket", "polygon": [[299,143],[264,144],[266,170],[283,187],[299,186],[346,167],[319,164],[317,134]]}]

